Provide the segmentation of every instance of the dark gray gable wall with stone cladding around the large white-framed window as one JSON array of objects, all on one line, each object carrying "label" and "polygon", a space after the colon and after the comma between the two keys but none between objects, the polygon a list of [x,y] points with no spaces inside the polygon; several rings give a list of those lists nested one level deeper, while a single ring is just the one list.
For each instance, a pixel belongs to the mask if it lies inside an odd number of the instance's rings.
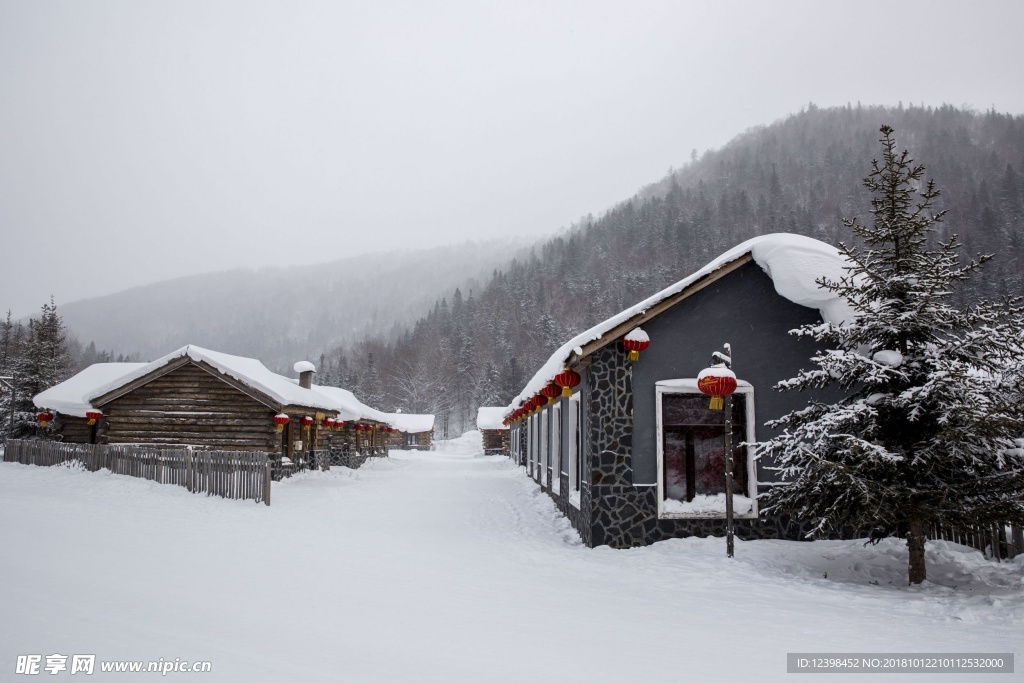
[{"label": "dark gray gable wall with stone cladding around the large white-framed window", "polygon": [[[770,430],[765,421],[802,408],[808,399],[806,393],[772,389],[809,367],[816,346],[788,332],[819,321],[817,310],[779,296],[760,266],[750,262],[644,323],[651,344],[638,361],[627,359],[618,340],[593,352],[581,369],[583,381],[578,387],[583,441],[580,507],[568,501],[567,468],[559,494],[545,487],[584,544],[629,548],[670,538],[724,535],[723,519],[657,517],[655,383],[695,378],[712,352],[729,342],[737,375],[754,386],[757,438],[767,438]],[[572,435],[563,431],[560,436],[562,453],[567,454]],[[763,465],[759,481],[768,477]],[[796,539],[803,531],[801,523],[785,517],[736,523],[736,533],[743,539]]]}]

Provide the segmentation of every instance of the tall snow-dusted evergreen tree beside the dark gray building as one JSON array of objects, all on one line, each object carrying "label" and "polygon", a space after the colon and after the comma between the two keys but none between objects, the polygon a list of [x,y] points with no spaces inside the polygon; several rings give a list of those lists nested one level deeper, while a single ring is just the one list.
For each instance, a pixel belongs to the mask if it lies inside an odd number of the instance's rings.
[{"label": "tall snow-dusted evergreen tree beside the dark gray building", "polygon": [[783,482],[765,497],[766,513],[816,520],[812,537],[903,537],[909,582],[920,584],[933,525],[1024,522],[1022,300],[952,306],[952,288],[991,257],[961,267],[955,236],[929,246],[944,213],[932,212],[939,190],[932,181],[921,190],[924,167],[895,152],[892,128],[881,132],[882,163],[864,179],[873,225],[844,220],[865,247],[840,245],[849,274],[819,283],[856,318],[795,330],[830,348],[776,387],[838,384],[845,398],[769,423],[782,433],[758,453]]}]

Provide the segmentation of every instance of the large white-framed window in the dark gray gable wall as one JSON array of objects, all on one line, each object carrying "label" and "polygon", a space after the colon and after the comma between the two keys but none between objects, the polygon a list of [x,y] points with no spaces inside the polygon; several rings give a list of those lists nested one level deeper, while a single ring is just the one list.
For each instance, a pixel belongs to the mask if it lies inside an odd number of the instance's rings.
[{"label": "large white-framed window in the dark gray gable wall", "polygon": [[[732,492],[736,517],[757,516],[752,459],[754,389],[740,382],[732,395]],[[725,415],[709,408],[696,380],[658,382],[658,516],[725,515]]]}]

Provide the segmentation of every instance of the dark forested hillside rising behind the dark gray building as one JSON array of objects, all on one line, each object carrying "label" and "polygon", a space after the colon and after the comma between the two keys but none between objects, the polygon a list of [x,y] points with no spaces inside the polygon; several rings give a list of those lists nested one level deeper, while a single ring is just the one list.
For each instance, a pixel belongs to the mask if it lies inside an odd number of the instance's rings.
[{"label": "dark forested hillside rising behind the dark gray building", "polygon": [[958,234],[967,255],[997,255],[961,299],[1024,292],[1024,118],[810,105],[581,220],[495,270],[482,289],[436,302],[396,339],[328,351],[319,379],[385,410],[435,413],[442,430],[458,433],[478,405],[509,401],[568,337],[739,242],[777,231],[852,241],[841,218],[867,216],[862,179],[882,124],[942,190],[949,213],[940,238]]}]

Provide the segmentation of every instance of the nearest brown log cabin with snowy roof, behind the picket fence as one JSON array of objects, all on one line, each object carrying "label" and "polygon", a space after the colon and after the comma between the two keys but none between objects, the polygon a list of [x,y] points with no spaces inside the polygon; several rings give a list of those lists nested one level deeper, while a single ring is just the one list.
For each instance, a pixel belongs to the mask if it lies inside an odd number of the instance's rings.
[{"label": "nearest brown log cabin with snowy roof, behind the picket fence", "polygon": [[[305,364],[309,365],[309,364]],[[324,447],[339,407],[253,358],[184,346],[148,364],[96,364],[34,398],[67,441],[280,453]],[[95,417],[85,431],[80,415]],[[284,424],[279,424],[279,423]]]}]

